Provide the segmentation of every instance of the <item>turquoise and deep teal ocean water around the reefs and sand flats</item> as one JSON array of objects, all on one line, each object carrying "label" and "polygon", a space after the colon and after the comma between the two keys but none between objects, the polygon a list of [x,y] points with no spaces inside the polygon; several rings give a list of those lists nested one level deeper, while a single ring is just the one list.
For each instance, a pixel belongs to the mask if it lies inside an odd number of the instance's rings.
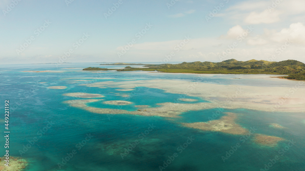
[{"label": "turquoise and deep teal ocean water around the reefs and sand flats", "polygon": [[[101,115],[91,113],[81,108],[70,107],[63,103],[75,97],[63,96],[65,93],[83,92],[102,94],[105,101],[126,100],[116,96],[117,87],[85,87],[86,82],[71,82],[67,80],[82,80],[88,78],[91,83],[101,81],[132,80],[187,80],[202,81],[213,84],[235,84],[248,86],[292,87],[295,83],[283,80],[261,79],[259,75],[217,75],[206,74],[198,80],[198,74],[150,73],[144,71],[116,72],[105,71],[97,79],[94,72],[80,71],[84,67],[100,67],[99,63],[67,63],[56,67],[54,64],[0,65],[0,100],[2,111],[4,101],[10,101],[9,115],[9,155],[27,159],[29,165],[26,171],[238,171],[249,170],[305,170],[305,114],[296,112],[264,112],[259,110],[240,109],[208,109],[188,111],[180,118],[168,119],[138,115]],[[124,68],[125,66],[103,66],[107,68]],[[29,70],[50,70],[53,72],[22,72]],[[69,78],[69,79],[67,79]],[[75,79],[70,79],[75,78]],[[106,78],[106,79],[105,79]],[[243,78],[243,79],[232,79]],[[45,82],[45,83],[41,83]],[[67,89],[48,89],[49,86],[67,86]],[[148,87],[137,87],[129,101],[131,105],[114,106],[101,101],[88,103],[88,106],[99,108],[136,110],[134,105],[149,105],[158,107],[158,103],[177,102],[181,94],[167,93],[163,90]],[[128,94],[130,92],[120,92]],[[206,102],[199,97],[192,98],[197,103]],[[289,141],[281,141],[276,147],[264,147],[245,140],[244,143],[225,162],[222,156],[231,150],[236,143],[241,143],[241,135],[228,135],[220,132],[204,132],[182,127],[181,122],[206,122],[216,111],[240,114],[238,123],[242,127],[257,128],[256,133],[274,135],[286,140],[292,140],[294,145],[280,153]],[[221,116],[217,116],[219,119]],[[4,115],[0,118],[4,129]],[[277,123],[286,129],[274,129],[269,123]],[[48,125],[52,123],[52,126]],[[46,128],[46,127],[49,128]],[[149,128],[153,127],[153,129]],[[41,133],[43,132],[43,134]],[[142,133],[148,132],[143,136]],[[4,133],[0,138],[0,154],[5,153]],[[90,135],[90,137],[88,137]],[[33,144],[33,139],[37,138]],[[192,142],[184,149],[178,148],[185,142]],[[82,146],[77,145],[84,142]],[[134,143],[137,142],[137,145]],[[32,143],[32,144],[30,144]],[[28,145],[30,144],[30,145]],[[132,149],[127,153],[129,149]],[[69,157],[72,151],[76,154]],[[126,151],[127,150],[127,151]],[[280,151],[280,152],[279,152]],[[178,156],[174,157],[174,153]],[[281,155],[283,154],[283,155]],[[272,166],[265,169],[265,164],[279,156]],[[169,159],[170,164],[164,165]],[[1,161],[3,164],[3,161]],[[164,169],[160,169],[163,166]],[[166,166],[166,167],[165,167]]]}]

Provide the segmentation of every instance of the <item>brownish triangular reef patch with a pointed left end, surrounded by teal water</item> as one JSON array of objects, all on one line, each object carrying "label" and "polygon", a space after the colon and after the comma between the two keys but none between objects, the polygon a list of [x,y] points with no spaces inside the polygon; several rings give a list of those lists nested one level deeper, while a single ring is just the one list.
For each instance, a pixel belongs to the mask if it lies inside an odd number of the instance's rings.
[{"label": "brownish triangular reef patch with a pointed left end, surrounded by teal water", "polygon": [[183,123],[182,125],[189,128],[201,129],[203,131],[217,131],[233,135],[246,135],[249,131],[235,123],[237,115],[234,113],[226,113],[226,116],[219,120],[208,122]]}]

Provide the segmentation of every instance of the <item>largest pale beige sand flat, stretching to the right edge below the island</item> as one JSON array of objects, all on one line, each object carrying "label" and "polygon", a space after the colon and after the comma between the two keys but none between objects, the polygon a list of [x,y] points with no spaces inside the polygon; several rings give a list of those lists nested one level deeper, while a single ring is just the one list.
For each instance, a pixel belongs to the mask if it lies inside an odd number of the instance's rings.
[{"label": "largest pale beige sand flat, stretching to the right edge below the island", "polygon": [[[290,81],[282,79],[278,80]],[[302,81],[294,82],[296,82],[296,85],[299,85],[298,83],[303,83]],[[299,85],[300,88],[296,89],[294,93],[292,93],[292,88],[290,87],[221,85],[202,82],[189,82],[185,80],[136,80],[120,82],[105,81],[82,85],[90,87],[106,86],[135,88],[141,86],[158,88],[163,89],[168,93],[186,94],[189,96],[201,97],[205,100],[211,101],[212,103],[216,103],[217,105],[215,106],[219,108],[248,108],[261,111],[283,112],[305,111],[305,84]],[[286,95],[289,95],[289,97],[285,97]],[[284,103],[282,103],[283,101]]]}]

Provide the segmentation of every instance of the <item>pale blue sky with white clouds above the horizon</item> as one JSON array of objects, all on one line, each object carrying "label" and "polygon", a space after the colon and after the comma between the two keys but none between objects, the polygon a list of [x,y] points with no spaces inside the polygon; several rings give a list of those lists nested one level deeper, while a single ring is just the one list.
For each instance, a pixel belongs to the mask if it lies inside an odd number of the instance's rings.
[{"label": "pale blue sky with white clouds above the horizon", "polygon": [[0,64],[305,62],[304,0],[1,0]]}]

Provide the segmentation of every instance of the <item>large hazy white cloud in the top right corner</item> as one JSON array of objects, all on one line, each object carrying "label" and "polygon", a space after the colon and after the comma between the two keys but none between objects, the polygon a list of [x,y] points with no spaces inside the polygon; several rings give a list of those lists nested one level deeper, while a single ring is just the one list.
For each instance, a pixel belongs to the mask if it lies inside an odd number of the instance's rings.
[{"label": "large hazy white cloud in the top right corner", "polygon": [[276,2],[271,0],[239,2],[226,9],[224,13],[217,14],[216,16],[229,18],[238,23],[270,24],[295,21],[294,18],[300,18],[300,15],[305,15],[304,0],[283,0],[280,3]]}]

